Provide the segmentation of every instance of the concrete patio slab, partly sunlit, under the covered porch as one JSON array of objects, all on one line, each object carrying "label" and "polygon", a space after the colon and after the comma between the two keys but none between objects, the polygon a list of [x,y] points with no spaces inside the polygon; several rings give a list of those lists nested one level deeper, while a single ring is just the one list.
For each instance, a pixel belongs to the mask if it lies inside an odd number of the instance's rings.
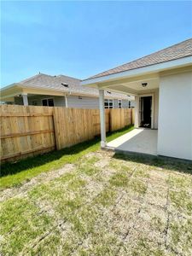
[{"label": "concrete patio slab, partly sunlit, under the covered porch", "polygon": [[107,143],[107,147],[121,151],[157,155],[157,130],[134,129]]}]

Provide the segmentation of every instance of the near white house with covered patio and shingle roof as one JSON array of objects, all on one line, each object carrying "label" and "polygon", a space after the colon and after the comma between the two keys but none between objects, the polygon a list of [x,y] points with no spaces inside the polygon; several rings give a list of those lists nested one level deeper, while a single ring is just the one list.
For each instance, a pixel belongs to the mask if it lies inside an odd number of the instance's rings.
[{"label": "near white house with covered patio and shingle roof", "polygon": [[102,147],[108,146],[104,90],[110,90],[136,99],[138,130],[131,138],[124,137],[123,143],[112,143],[114,148],[148,153],[151,145],[153,154],[192,160],[192,38],[96,74],[81,84],[99,89]]}]

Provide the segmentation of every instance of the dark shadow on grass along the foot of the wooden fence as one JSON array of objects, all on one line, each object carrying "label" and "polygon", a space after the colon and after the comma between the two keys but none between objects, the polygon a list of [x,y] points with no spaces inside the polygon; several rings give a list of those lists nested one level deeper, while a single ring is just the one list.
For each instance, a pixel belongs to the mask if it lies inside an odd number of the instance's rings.
[{"label": "dark shadow on grass along the foot of the wooden fence", "polygon": [[43,166],[44,164],[47,164],[54,160],[59,160],[64,155],[67,156],[67,155],[78,154],[79,152],[81,152],[87,148],[90,148],[99,142],[100,142],[100,138],[96,137],[93,140],[90,140],[90,141],[87,141],[84,143],[79,143],[70,148],[63,148],[58,151],[55,150],[55,151],[50,151],[49,153],[45,153],[45,154],[38,154],[33,157],[28,157],[25,160],[20,160],[16,163],[13,163],[13,162],[12,163],[11,162],[4,163],[1,166],[0,177],[7,176],[9,174],[15,174],[17,172],[22,172],[27,169],[31,169],[33,167]]}]

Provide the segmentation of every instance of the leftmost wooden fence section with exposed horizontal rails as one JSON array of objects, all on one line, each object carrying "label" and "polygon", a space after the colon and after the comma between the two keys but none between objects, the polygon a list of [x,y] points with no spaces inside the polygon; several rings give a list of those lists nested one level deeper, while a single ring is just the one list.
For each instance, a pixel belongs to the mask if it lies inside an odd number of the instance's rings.
[{"label": "leftmost wooden fence section with exposed horizontal rails", "polygon": [[2,105],[1,160],[19,160],[55,148],[53,108]]}]

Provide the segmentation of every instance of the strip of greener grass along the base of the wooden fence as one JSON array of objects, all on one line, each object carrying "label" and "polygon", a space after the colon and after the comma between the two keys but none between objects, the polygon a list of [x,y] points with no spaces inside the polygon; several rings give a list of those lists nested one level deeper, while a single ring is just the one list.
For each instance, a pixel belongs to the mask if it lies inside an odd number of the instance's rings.
[{"label": "strip of greener grass along the base of the wooden fence", "polygon": [[[112,141],[133,129],[131,125],[122,130],[108,133],[107,141]],[[0,189],[20,186],[21,183],[29,181],[41,172],[49,172],[59,169],[67,163],[74,163],[84,154],[94,152],[99,148],[100,137],[96,137],[94,140],[79,143],[71,148],[64,148],[59,151],[49,152],[48,154],[27,158],[17,163],[3,164],[1,166]]]}]

